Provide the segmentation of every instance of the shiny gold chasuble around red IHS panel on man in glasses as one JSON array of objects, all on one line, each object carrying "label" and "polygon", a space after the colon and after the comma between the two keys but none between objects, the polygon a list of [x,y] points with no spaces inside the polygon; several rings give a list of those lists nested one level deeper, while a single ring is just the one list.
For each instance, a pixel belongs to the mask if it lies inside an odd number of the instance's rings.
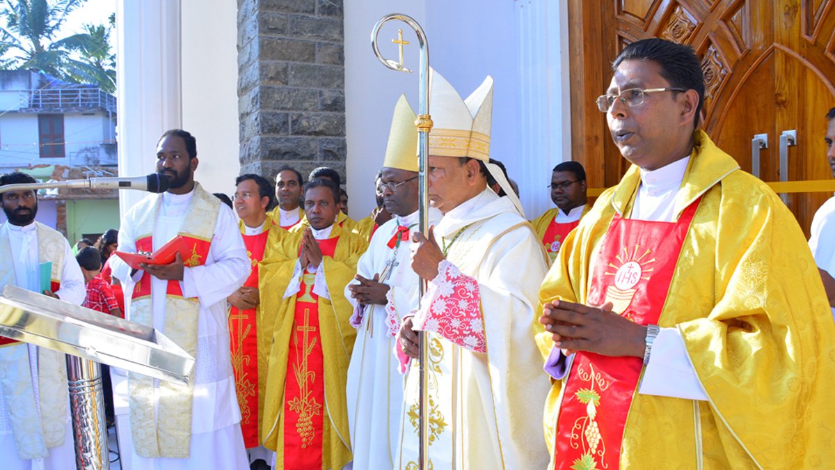
[{"label": "shiny gold chasuble around red IHS panel on man in glasses", "polygon": [[[792,213],[740,171],[702,131],[676,199],[676,217],[702,197],[660,314],[677,328],[708,401],[635,391],[620,467],[802,468],[835,459],[835,325]],[[539,294],[585,302],[615,212],[628,217],[640,184],[632,166],[566,238]],[[543,357],[553,342],[537,335]],[[564,381],[545,407],[553,455]],[[550,467],[553,467],[552,460]]]}]

